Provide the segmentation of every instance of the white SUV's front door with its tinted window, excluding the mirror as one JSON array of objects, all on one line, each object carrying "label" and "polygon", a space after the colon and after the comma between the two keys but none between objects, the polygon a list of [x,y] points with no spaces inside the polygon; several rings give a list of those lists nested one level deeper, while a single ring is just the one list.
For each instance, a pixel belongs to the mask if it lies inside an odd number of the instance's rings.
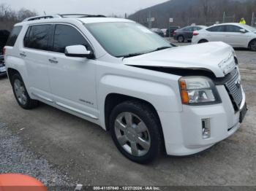
[{"label": "white SUV's front door with its tinted window, excluding the mirror", "polygon": [[75,26],[57,24],[48,55],[50,87],[53,99],[61,108],[82,117],[97,119],[95,72],[97,61],[67,57],[65,47],[84,45],[93,51],[86,37]]}]

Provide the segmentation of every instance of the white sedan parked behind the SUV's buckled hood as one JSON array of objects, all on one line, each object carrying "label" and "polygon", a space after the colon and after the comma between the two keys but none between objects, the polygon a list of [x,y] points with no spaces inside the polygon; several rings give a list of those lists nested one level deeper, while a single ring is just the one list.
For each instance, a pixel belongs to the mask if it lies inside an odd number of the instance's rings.
[{"label": "white sedan parked behind the SUV's buckled hood", "polygon": [[256,28],[238,23],[224,23],[195,31],[192,43],[225,42],[232,47],[256,51]]}]

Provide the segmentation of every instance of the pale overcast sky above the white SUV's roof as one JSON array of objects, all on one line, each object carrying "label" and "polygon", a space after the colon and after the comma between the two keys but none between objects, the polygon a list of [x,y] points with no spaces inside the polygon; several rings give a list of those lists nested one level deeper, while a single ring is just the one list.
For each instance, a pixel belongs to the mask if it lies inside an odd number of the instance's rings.
[{"label": "pale overcast sky above the white SUV's roof", "polygon": [[1,0],[0,3],[9,4],[12,9],[25,7],[42,14],[53,13],[88,13],[124,15],[139,9],[151,7],[167,0]]}]

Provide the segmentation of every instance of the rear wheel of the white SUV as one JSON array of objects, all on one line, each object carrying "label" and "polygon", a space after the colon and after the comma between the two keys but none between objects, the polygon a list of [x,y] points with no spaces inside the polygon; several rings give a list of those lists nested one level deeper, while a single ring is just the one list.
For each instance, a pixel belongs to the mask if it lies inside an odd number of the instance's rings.
[{"label": "rear wheel of the white SUV", "polygon": [[34,109],[38,106],[39,101],[31,99],[29,93],[26,90],[20,74],[14,74],[11,78],[12,90],[15,95],[15,99],[23,109]]}]

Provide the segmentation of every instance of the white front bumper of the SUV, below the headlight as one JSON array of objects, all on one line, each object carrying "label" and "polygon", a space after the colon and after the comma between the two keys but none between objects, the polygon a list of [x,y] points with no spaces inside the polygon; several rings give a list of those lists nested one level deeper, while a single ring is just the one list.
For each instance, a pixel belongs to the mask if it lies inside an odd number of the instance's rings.
[{"label": "white front bumper of the SUV, below the headlight", "polygon": [[[217,86],[221,104],[183,106],[182,112],[159,112],[167,155],[185,156],[201,152],[227,139],[240,127],[236,112],[224,85]],[[245,93],[241,109],[245,106]],[[171,120],[170,120],[171,119]],[[209,120],[211,137],[203,139],[202,120]]]}]

